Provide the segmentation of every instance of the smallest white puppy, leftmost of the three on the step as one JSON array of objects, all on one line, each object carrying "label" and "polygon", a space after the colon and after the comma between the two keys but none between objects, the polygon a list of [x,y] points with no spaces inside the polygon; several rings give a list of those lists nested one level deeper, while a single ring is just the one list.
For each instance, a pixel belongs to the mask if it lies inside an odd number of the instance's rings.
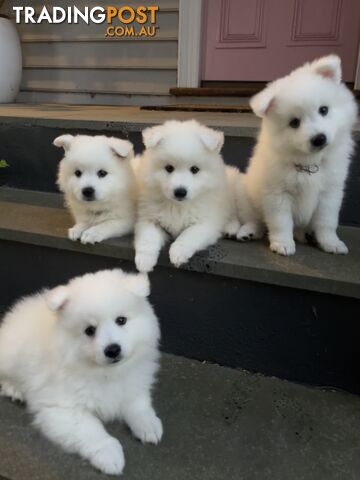
[{"label": "smallest white puppy, leftmost of the three on the step", "polygon": [[65,150],[58,185],[76,222],[69,238],[96,243],[131,233],[136,211],[133,145],[87,135],[62,135],[54,145]]}]

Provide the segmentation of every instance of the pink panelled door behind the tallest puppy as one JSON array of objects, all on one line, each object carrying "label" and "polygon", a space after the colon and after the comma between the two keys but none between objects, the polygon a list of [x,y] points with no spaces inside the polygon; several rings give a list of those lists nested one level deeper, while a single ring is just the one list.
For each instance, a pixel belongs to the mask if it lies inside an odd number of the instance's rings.
[{"label": "pink panelled door behind the tallest puppy", "polygon": [[321,55],[355,80],[360,0],[205,0],[203,80],[267,81]]}]

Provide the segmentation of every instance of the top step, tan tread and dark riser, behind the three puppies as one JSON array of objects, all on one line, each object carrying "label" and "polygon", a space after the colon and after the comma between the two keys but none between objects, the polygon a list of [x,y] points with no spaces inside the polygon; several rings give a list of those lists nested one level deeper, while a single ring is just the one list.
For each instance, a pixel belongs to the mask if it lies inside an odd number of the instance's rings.
[{"label": "top step, tan tread and dark riser, behind the three puppies", "polygon": [[[196,118],[223,130],[225,161],[245,170],[260,125],[259,119],[252,114],[161,112],[135,107],[3,105],[0,106],[0,159],[5,159],[9,168],[0,170],[0,185],[56,191],[56,171],[62,152],[52,145],[55,137],[63,133],[117,135],[129,138],[135,150],[141,152],[142,129],[171,118]],[[360,226],[360,124],[354,137],[357,151],[340,220],[343,225]]]}]

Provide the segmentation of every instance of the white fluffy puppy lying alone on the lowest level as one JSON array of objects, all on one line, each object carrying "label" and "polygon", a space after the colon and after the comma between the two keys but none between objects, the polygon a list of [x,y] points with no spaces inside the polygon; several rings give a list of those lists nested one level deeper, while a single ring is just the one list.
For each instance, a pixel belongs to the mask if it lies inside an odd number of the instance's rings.
[{"label": "white fluffy puppy lying alone on the lowest level", "polygon": [[0,327],[2,393],[25,400],[35,425],[68,452],[120,474],[120,442],[102,421],[123,419],[158,443],[152,407],[159,326],[144,275],[107,270],[20,300]]}]

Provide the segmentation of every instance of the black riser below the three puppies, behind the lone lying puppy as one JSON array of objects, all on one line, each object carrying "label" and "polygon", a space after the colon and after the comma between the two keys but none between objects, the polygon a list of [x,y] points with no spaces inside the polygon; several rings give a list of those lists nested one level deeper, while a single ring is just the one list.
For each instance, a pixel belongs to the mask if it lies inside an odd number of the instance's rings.
[{"label": "black riser below the three puppies, behind the lone lying puppy", "polygon": [[[134,268],[10,241],[0,241],[0,264],[2,309],[75,275]],[[164,351],[360,393],[359,300],[165,267],[151,281]]]}]

